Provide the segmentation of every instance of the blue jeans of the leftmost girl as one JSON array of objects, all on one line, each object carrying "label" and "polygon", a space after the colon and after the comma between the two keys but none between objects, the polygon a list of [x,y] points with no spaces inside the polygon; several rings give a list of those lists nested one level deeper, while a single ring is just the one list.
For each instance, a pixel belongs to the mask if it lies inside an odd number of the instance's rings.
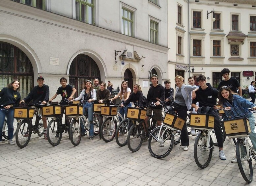
[{"label": "blue jeans of the leftmost girl", "polygon": [[6,119],[7,119],[7,126],[8,126],[8,133],[7,133],[8,140],[13,139],[14,109],[10,108],[10,109],[7,109],[7,111],[0,110],[0,130],[1,130],[1,132],[0,132],[0,141],[2,141],[2,129],[3,129],[3,126],[4,126],[5,116],[6,116]]}]

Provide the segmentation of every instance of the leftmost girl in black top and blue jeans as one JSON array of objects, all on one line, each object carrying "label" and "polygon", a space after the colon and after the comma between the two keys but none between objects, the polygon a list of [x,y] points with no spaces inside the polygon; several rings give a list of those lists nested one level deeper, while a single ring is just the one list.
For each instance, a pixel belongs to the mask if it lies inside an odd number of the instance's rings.
[{"label": "leftmost girl in black top and blue jeans", "polygon": [[2,128],[4,126],[5,117],[7,119],[8,126],[8,144],[14,145],[13,142],[13,121],[14,121],[14,107],[19,106],[20,94],[18,93],[19,81],[14,80],[10,83],[7,88],[3,88],[0,91],[0,105],[3,108],[0,108],[0,142],[2,141]]}]

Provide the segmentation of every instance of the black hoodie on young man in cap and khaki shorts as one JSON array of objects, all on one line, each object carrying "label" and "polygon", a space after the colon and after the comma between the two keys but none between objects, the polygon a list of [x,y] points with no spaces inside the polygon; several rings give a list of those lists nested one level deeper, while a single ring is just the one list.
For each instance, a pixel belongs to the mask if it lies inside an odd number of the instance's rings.
[{"label": "black hoodie on young man in cap and khaki shorts", "polygon": [[[165,89],[161,84],[158,84],[156,87],[152,86],[149,89],[147,100],[148,100],[148,105],[153,103],[156,103],[156,98],[159,98],[161,101],[164,101],[164,96],[165,96]],[[162,105],[158,106],[152,106],[154,108],[162,108]]]}]

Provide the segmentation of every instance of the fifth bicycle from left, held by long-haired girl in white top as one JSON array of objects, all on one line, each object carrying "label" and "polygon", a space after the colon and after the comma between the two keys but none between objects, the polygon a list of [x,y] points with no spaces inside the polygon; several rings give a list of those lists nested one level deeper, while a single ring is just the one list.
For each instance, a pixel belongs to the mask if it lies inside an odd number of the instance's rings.
[{"label": "fifth bicycle from left, held by long-haired girl in white top", "polygon": [[[110,101],[110,106],[101,106],[100,114],[107,117],[101,125],[100,137],[104,142],[111,142],[116,135],[118,116],[121,117],[122,121],[124,118],[117,111],[117,105],[114,105],[114,101]],[[121,121],[119,121],[121,123]]]}]

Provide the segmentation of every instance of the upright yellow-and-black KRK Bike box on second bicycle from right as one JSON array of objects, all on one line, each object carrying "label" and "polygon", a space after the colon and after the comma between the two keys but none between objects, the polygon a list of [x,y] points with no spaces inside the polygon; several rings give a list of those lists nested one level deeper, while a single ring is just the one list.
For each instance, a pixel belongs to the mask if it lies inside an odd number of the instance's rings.
[{"label": "upright yellow-and-black KRK Bike box on second bicycle from right", "polygon": [[210,114],[189,114],[190,127],[213,129],[214,117]]}]

